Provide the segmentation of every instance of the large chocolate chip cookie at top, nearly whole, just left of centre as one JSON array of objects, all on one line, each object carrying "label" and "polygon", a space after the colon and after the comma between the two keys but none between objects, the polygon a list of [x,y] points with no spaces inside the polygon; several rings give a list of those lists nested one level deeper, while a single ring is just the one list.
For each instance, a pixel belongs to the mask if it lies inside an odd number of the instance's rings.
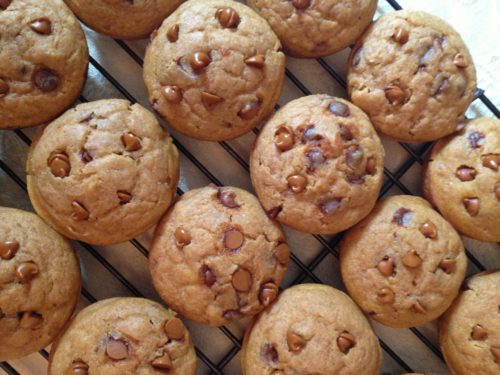
[{"label": "large chocolate chip cookie at top, nearly whole, just left of centre", "polygon": [[152,36],[144,59],[151,106],[188,136],[247,133],[281,94],[285,56],[267,22],[230,0],[191,0]]}]

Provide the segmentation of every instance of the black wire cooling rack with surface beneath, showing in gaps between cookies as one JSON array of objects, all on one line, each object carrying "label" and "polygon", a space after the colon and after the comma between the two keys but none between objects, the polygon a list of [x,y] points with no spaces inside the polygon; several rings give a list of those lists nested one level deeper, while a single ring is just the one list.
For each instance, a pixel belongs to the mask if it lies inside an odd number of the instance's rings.
[{"label": "black wire cooling rack with surface beneath, showing in gaps between cookies", "polygon": [[[401,9],[397,1],[386,1],[393,9]],[[142,56],[147,42],[113,40],[87,28],[85,32],[91,57],[88,81],[79,101],[119,97],[149,108],[142,82]],[[344,51],[310,61],[288,58],[280,103],[320,92],[345,96],[346,82],[343,77],[347,53]],[[310,77],[314,77],[314,81]],[[482,112],[500,117],[499,109],[483,90],[476,90],[474,100]],[[276,109],[279,107],[278,104]],[[0,205],[32,210],[26,194],[25,162],[35,132],[34,129],[24,129],[0,133]],[[258,129],[254,129],[253,133],[237,140],[209,143],[194,141],[172,131],[181,158],[181,180],[177,194],[182,195],[208,183],[252,190],[247,160],[258,132]],[[420,194],[420,170],[431,144],[408,145],[387,139],[383,139],[383,144],[388,157],[380,196]],[[286,229],[286,234],[293,252],[283,287],[316,282],[343,289],[338,267],[338,244],[342,234],[307,235],[290,229]],[[84,281],[78,309],[114,296],[137,296],[159,301],[147,269],[147,248],[151,237],[152,230],[114,246],[98,247],[74,242],[82,260]],[[484,244],[466,238],[464,243],[468,248],[468,274],[500,266],[499,257],[495,254],[499,251],[498,244]],[[192,322],[187,324],[197,345],[198,374],[241,374],[238,353],[244,324],[233,323],[220,328]],[[391,329],[376,322],[373,325],[383,351],[384,373],[429,371],[433,374],[449,374],[439,349],[436,322],[410,329]],[[22,360],[0,363],[0,372],[11,375],[46,374],[47,358],[48,352],[42,350]]]}]

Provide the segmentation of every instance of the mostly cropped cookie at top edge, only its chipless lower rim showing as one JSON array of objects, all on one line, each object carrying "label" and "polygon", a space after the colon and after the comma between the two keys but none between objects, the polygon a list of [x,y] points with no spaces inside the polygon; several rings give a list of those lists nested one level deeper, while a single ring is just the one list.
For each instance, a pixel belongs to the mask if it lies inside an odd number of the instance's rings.
[{"label": "mostly cropped cookie at top edge, only its chipless lower rim showing", "polygon": [[65,0],[95,31],[119,39],[147,37],[183,0]]}]

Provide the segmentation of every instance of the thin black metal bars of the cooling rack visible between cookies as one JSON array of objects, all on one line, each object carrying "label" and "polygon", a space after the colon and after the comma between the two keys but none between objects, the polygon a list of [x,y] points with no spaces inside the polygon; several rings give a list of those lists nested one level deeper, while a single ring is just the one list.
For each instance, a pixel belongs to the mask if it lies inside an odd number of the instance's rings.
[{"label": "thin black metal bars of the cooling rack visible between cookies", "polygon": [[[401,9],[401,6],[395,0],[386,0],[387,3],[391,5],[394,9]],[[142,58],[137,54],[133,48],[131,48],[126,42],[116,40],[117,45],[142,68]],[[346,82],[342,78],[342,76],[323,58],[316,60],[319,66],[323,68],[323,70],[330,76],[338,85],[345,88]],[[109,84],[111,84],[114,89],[117,90],[124,98],[128,99],[132,103],[136,103],[137,100],[107,69],[105,69],[99,61],[91,56],[90,64],[102,77],[107,80]],[[311,91],[306,87],[306,85],[292,73],[289,69],[286,70],[286,77],[293,84],[299,92],[303,95],[311,94]],[[86,97],[80,96],[81,102],[88,101]],[[500,117],[500,111],[495,105],[487,98],[483,90],[477,90],[475,100],[480,100],[497,118]],[[276,107],[278,109],[279,106]],[[23,130],[14,130],[13,131],[24,144],[25,146],[29,146],[31,144],[31,139],[27,135],[26,131]],[[254,133],[258,133],[258,129],[254,130]],[[214,183],[216,185],[223,185],[223,181],[221,181],[218,177],[216,177],[209,168],[201,161],[198,157],[196,157],[183,143],[174,137],[174,144],[179,149],[180,153],[191,163],[208,181]],[[243,171],[248,173],[249,167],[248,162],[242,157],[235,148],[229,142],[219,142],[220,147],[224,150],[227,155],[233,159]],[[384,168],[385,182],[380,192],[380,196],[386,195],[392,188],[397,188],[399,191],[404,194],[412,194],[411,190],[403,183],[402,177],[408,172],[414,165],[422,164],[424,160],[425,153],[430,149],[431,144],[424,144],[418,149],[414,147],[400,143],[403,150],[406,152],[405,161],[399,166],[399,168],[391,172],[388,168]],[[22,190],[26,192],[26,184],[18,174],[3,160],[0,159],[0,169],[5,173],[10,179]],[[184,191],[179,187],[177,188],[177,194],[182,195]],[[298,268],[299,273],[295,277],[295,279],[291,282],[291,284],[302,283],[305,281],[312,281],[317,283],[324,283],[315,272],[320,266],[320,264],[329,256],[332,256],[334,259],[338,259],[339,251],[337,245],[342,238],[342,234],[338,234],[333,236],[332,238],[326,238],[321,235],[312,235],[314,240],[318,242],[318,244],[322,247],[319,253],[309,262],[303,262],[299,256],[292,253],[291,260],[293,264]],[[133,239],[130,241],[130,244],[144,257],[147,258],[148,251],[146,247],[141,243],[138,239]],[[130,282],[113,264],[111,264],[106,257],[104,257],[96,248],[91,245],[85,243],[79,243],[80,247],[84,248],[91,257],[95,259],[102,267],[109,272],[109,274],[116,279],[116,281],[121,284],[131,295],[142,297],[143,293],[137,288],[132,282]],[[470,260],[470,263],[475,271],[482,271],[485,269],[485,266],[470,252],[467,250],[467,256]],[[88,303],[93,303],[97,301],[97,298],[94,297],[85,287],[82,289],[82,297]],[[230,341],[232,347],[228,350],[225,355],[215,361],[210,358],[209,355],[204,353],[201,349],[196,348],[196,353],[200,361],[206,366],[208,373],[210,374],[227,374],[225,369],[228,364],[231,363],[238,352],[241,349],[241,338],[238,337],[238,334],[235,334],[233,330],[229,327],[220,327],[219,330],[221,333]],[[442,353],[439,348],[429,340],[429,338],[417,328],[410,329],[413,335],[420,340],[428,350],[436,356],[440,361],[443,360]],[[196,340],[195,340],[196,341]],[[411,366],[405,361],[396,350],[391,348],[385,341],[380,339],[381,347],[385,353],[385,355],[390,358],[391,361],[395,362],[397,366],[404,371],[413,372]],[[47,359],[48,354],[46,351],[40,351],[40,355]],[[2,362],[0,363],[0,368],[7,374],[19,374],[19,372],[9,363]]]}]

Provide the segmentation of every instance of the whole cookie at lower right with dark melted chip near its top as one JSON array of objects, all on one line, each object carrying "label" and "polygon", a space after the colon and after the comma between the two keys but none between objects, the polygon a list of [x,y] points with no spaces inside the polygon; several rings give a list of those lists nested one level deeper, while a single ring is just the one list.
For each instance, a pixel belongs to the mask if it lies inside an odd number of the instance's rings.
[{"label": "whole cookie at lower right with dark melted chip near its top", "polygon": [[340,246],[349,294],[390,327],[422,325],[444,313],[466,267],[458,233],[427,201],[409,195],[380,201]]}]

